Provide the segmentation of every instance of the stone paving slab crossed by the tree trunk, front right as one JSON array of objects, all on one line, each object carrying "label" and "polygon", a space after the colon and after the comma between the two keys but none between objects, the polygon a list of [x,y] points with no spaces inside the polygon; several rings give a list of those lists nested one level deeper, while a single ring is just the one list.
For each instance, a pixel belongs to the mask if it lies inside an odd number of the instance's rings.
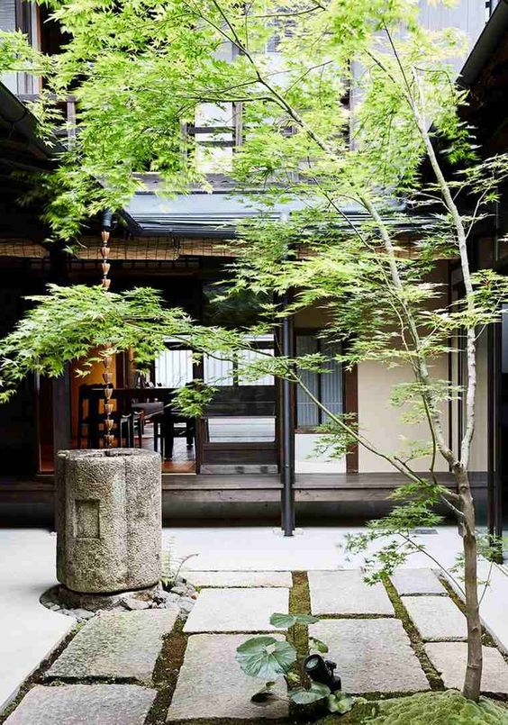
[{"label": "stone paving slab crossed by the tree trunk, front right", "polygon": [[[508,665],[494,647],[484,647],[482,692],[508,694]],[[445,687],[461,689],[467,663],[466,642],[431,642],[425,645],[431,663],[440,673]]]}]

